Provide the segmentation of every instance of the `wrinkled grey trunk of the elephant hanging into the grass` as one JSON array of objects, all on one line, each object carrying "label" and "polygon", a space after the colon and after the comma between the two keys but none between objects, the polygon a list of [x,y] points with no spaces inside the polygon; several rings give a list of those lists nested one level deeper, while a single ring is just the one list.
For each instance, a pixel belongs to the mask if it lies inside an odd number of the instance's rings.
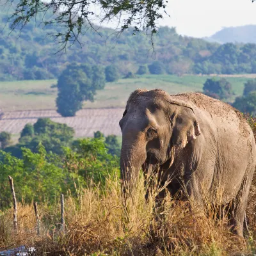
[{"label": "wrinkled grey trunk of the elephant hanging into the grass", "polygon": [[131,190],[136,181],[143,163],[147,158],[146,146],[136,138],[125,138],[123,135],[120,157],[121,182],[123,192]]}]

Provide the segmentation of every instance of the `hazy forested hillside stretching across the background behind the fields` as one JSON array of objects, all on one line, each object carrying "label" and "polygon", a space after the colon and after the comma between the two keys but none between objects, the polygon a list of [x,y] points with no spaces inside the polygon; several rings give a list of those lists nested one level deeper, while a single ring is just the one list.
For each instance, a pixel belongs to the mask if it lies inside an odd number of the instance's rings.
[{"label": "hazy forested hillside stretching across the background behind the fields", "polygon": [[[60,31],[52,26],[40,26],[31,21],[21,33],[12,33],[6,25],[7,12],[1,8],[0,28],[0,81],[42,80],[57,78],[68,63],[92,65],[112,64],[122,76],[136,72],[140,65],[158,60],[166,74],[243,74],[256,73],[256,45],[220,45],[200,38],[180,36],[174,28],[161,27],[154,36],[154,49],[150,37],[132,35],[132,29],[117,35],[116,31],[100,28],[84,31],[67,51],[52,35]],[[57,53],[58,52],[58,53]],[[57,53],[57,54],[56,54]]]}]

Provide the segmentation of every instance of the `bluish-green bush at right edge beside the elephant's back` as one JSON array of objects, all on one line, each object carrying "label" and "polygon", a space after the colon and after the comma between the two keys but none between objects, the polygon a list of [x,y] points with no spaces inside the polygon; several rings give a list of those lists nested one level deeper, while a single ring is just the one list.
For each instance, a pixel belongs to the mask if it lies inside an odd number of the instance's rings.
[{"label": "bluish-green bush at right edge beside the elephant's back", "polygon": [[250,92],[246,96],[236,97],[233,106],[234,108],[239,109],[242,113],[256,116],[256,91]]}]

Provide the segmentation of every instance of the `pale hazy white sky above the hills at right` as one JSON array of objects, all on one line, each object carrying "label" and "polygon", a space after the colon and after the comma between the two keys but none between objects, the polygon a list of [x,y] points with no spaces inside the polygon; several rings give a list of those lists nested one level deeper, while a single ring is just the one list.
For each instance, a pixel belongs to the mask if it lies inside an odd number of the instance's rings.
[{"label": "pale hazy white sky above the hills at right", "polygon": [[171,17],[159,24],[188,36],[211,36],[223,27],[256,24],[256,1],[250,0],[169,0],[166,11]]}]

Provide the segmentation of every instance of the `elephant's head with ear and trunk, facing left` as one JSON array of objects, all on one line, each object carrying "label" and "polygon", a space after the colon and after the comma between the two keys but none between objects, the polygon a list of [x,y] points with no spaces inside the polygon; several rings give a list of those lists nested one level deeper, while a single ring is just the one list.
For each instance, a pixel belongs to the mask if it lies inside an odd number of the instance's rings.
[{"label": "elephant's head with ear and trunk, facing left", "polygon": [[172,166],[180,150],[200,135],[193,108],[163,90],[136,90],[122,119],[122,184],[134,184],[141,167]]}]

